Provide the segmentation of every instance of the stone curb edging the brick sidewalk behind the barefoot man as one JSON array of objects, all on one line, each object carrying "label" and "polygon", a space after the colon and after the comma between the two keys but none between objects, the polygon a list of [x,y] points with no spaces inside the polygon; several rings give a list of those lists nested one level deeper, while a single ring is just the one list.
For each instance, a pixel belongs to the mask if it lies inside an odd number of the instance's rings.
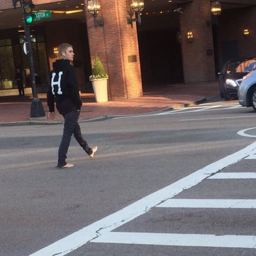
[{"label": "stone curb edging the brick sidewalk behind the barefoot man", "polygon": [[[78,122],[79,123],[88,123],[88,122],[104,121],[104,120],[113,119],[113,118],[116,118],[116,117],[139,117],[139,116],[144,116],[144,115],[154,115],[154,114],[162,113],[162,112],[169,111],[169,110],[182,109],[182,108],[186,108],[186,107],[190,107],[190,106],[194,106],[194,105],[199,105],[199,104],[204,103],[206,101],[207,101],[207,98],[202,97],[199,100],[196,100],[194,102],[189,102],[189,103],[184,103],[184,104],[176,104],[176,105],[172,105],[172,106],[167,107],[165,109],[161,109],[161,110],[154,111],[154,112],[141,113],[141,114],[132,114],[132,115],[104,115],[104,116],[94,117],[94,118],[90,118],[90,119],[78,120]],[[0,123],[0,127],[21,126],[21,125],[53,125],[53,124],[63,124],[63,123],[64,123],[64,121],[50,121],[50,122],[47,122],[47,121],[33,121],[33,120],[30,120],[30,121],[19,121],[19,122],[4,122],[4,123]]]}]

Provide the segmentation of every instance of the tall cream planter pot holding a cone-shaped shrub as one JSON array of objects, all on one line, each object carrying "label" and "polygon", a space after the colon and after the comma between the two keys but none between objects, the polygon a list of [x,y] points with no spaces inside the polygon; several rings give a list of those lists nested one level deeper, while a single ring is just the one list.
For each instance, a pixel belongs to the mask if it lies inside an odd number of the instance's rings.
[{"label": "tall cream planter pot holding a cone-shaped shrub", "polygon": [[91,80],[96,102],[108,101],[108,78]]}]

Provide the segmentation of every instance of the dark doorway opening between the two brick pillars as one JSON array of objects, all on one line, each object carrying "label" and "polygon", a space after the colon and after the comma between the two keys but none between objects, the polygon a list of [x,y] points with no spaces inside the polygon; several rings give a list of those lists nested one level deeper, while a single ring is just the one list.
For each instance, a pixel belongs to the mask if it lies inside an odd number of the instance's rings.
[{"label": "dark doorway opening between the two brick pillars", "polygon": [[159,15],[145,17],[142,21],[138,26],[138,41],[143,90],[183,83],[178,18]]}]

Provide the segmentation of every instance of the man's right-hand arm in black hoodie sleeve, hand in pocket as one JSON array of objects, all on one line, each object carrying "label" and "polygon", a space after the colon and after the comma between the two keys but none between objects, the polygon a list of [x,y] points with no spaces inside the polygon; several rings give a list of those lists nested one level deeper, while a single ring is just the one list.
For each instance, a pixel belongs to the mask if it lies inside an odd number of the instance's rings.
[{"label": "man's right-hand arm in black hoodie sleeve, hand in pocket", "polygon": [[74,102],[76,109],[79,110],[81,109],[82,101],[79,97],[78,82],[77,82],[74,66],[70,66],[68,69],[67,83],[68,83],[68,87],[71,90],[72,101]]}]

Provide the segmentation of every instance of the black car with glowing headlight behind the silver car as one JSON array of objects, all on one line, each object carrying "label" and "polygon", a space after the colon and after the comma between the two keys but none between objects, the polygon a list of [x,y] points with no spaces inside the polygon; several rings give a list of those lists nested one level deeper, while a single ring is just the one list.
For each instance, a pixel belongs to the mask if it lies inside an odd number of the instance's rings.
[{"label": "black car with glowing headlight behind the silver car", "polygon": [[256,70],[256,57],[226,62],[222,71],[218,72],[220,97],[236,99],[243,77],[252,70]]}]

